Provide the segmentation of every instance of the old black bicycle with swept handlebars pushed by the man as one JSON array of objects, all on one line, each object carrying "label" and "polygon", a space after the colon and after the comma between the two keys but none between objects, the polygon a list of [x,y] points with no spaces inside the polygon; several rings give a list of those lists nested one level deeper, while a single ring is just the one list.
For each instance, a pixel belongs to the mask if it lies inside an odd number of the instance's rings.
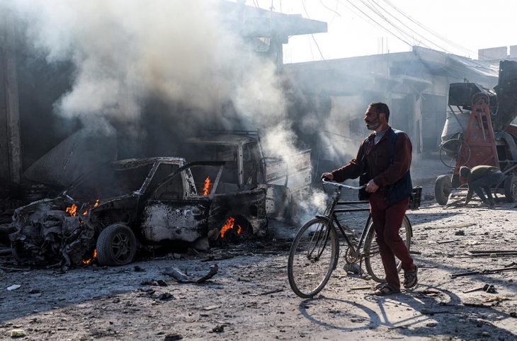
[{"label": "old black bicycle with swept handlebars pushed by the man", "polygon": [[[339,260],[340,239],[336,231],[336,226],[341,231],[346,242],[345,260],[348,264],[359,262],[359,274],[361,274],[361,263],[365,262],[366,272],[375,282],[385,282],[384,267],[380,259],[380,252],[372,223],[372,217],[368,214],[363,231],[358,243],[351,241],[346,235],[346,226],[342,226],[337,219],[336,213],[343,212],[362,212],[370,211],[369,208],[336,208],[341,205],[367,204],[368,201],[345,201],[340,202],[341,190],[360,190],[365,186],[349,186],[341,183],[331,183],[323,180],[324,185],[335,186],[334,194],[327,204],[324,214],[315,216],[314,219],[307,221],[297,232],[292,241],[289,260],[288,278],[292,291],[304,299],[312,298],[325,287]],[[418,193],[418,191],[420,191]],[[416,190],[416,195],[421,195],[421,188]],[[414,189],[415,194],[415,189]],[[416,202],[416,200],[413,200]],[[411,204],[410,204],[411,206]],[[415,206],[415,204],[413,205]],[[419,198],[417,207],[419,206]],[[411,207],[411,208],[417,208]],[[399,233],[406,244],[408,250],[411,245],[411,223],[407,215],[404,214],[402,226]],[[362,248],[362,250],[361,250]],[[397,260],[397,270],[400,271],[402,264]],[[320,272],[317,270],[322,269]]]}]

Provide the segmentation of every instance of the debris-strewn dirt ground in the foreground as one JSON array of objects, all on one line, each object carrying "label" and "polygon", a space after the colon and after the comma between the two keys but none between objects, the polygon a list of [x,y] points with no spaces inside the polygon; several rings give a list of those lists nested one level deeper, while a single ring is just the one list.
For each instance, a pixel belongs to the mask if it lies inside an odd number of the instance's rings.
[{"label": "debris-strewn dirt ground in the foreground", "polygon": [[[516,340],[516,270],[450,275],[517,262],[516,255],[465,254],[517,250],[516,204],[443,209],[424,202],[408,216],[411,250],[421,253],[414,255],[419,285],[386,297],[373,296],[374,282],[347,274],[340,258],[321,294],[300,299],[288,284],[286,240],[65,273],[20,269],[0,257],[0,339],[19,329],[21,340]],[[176,266],[197,278],[214,264],[219,272],[204,284],[162,274]],[[485,283],[496,293],[463,293]],[[20,287],[6,289],[14,284]]]}]

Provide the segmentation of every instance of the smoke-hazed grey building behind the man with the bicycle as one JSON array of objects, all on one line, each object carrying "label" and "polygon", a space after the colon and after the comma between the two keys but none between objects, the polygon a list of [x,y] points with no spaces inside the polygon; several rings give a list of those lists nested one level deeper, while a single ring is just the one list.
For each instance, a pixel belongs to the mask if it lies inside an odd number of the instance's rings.
[{"label": "smoke-hazed grey building behind the man with the bicycle", "polygon": [[317,163],[326,165],[319,168],[333,169],[353,156],[343,155],[339,146],[351,144],[355,149],[356,141],[366,134],[366,106],[379,101],[389,105],[394,113],[390,124],[409,134],[414,151],[436,158],[448,115],[449,84],[470,81],[493,88],[499,60],[475,60],[415,46],[411,52],[288,64],[284,69],[298,96],[307,98],[304,105],[308,105],[300,110],[310,110],[322,122],[319,147],[313,147]]}]

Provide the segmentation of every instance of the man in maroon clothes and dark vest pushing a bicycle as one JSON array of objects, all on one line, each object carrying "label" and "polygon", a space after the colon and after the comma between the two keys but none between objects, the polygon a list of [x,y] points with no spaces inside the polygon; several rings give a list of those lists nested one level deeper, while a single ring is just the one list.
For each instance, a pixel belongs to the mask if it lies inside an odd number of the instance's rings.
[{"label": "man in maroon clothes and dark vest pushing a bicycle", "polygon": [[386,273],[386,283],[375,291],[378,296],[400,292],[395,256],[404,269],[404,288],[414,287],[418,282],[418,268],[399,236],[412,191],[409,175],[412,146],[406,133],[388,125],[389,119],[390,109],[385,103],[368,105],[364,120],[373,134],[360,145],[356,158],[331,173],[322,174],[322,179],[339,183],[360,176],[361,185],[366,184],[365,194],[370,200],[370,213]]}]

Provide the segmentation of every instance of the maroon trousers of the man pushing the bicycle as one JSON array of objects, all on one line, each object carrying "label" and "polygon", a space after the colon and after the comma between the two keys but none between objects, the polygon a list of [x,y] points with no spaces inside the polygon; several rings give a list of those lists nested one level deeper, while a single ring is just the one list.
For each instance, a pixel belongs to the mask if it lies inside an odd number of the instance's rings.
[{"label": "maroon trousers of the man pushing the bicycle", "polygon": [[406,213],[409,198],[397,204],[387,204],[384,193],[370,193],[370,213],[380,258],[386,272],[386,282],[395,289],[400,289],[399,274],[395,256],[402,262],[404,271],[414,270],[413,259],[409,255],[406,244],[399,236],[400,226]]}]

